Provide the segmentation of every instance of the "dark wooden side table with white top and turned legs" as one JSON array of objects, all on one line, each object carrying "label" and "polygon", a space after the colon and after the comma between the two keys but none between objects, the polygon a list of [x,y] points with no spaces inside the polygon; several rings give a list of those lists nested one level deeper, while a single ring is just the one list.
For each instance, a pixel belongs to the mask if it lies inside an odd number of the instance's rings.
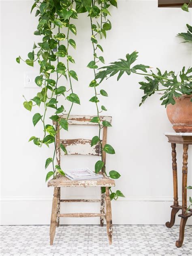
[{"label": "dark wooden side table with white top and turned legs", "polygon": [[[169,139],[172,147],[172,168],[173,168],[173,192],[174,202],[171,205],[171,220],[166,222],[166,226],[171,228],[175,223],[175,215],[181,209],[182,213],[179,214],[181,217],[180,229],[179,229],[179,240],[176,241],[175,245],[181,247],[184,239],[185,225],[190,216],[192,216],[192,209],[186,213],[187,209],[187,175],[188,175],[188,146],[192,145],[192,132],[167,132],[165,136]],[[183,144],[183,168],[182,168],[182,206],[178,203],[178,188],[177,188],[177,160],[176,160],[176,144]],[[190,185],[190,184],[189,184]]]}]

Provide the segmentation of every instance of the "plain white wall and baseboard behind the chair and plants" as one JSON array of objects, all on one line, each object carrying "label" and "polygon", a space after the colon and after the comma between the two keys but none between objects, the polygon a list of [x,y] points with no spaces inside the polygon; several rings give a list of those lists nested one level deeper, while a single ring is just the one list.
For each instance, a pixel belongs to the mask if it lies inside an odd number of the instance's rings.
[{"label": "plain white wall and baseboard behind the chair and plants", "polygon": [[[17,64],[15,58],[23,58],[31,51],[37,19],[30,15],[33,1],[1,2],[1,104],[2,104],[2,172],[1,172],[1,223],[2,224],[49,224],[52,188],[45,183],[45,159],[52,151],[47,147],[37,148],[28,139],[42,135],[40,124],[33,128],[32,113],[23,108],[24,94],[32,98],[38,89],[24,88],[24,75],[28,71],[38,74],[25,64]],[[143,63],[162,70],[179,71],[191,65],[191,49],[181,44],[175,35],[186,30],[191,23],[191,14],[181,9],[158,9],[157,1],[118,1],[118,9],[111,8],[112,30],[107,39],[100,42],[104,48],[105,62],[125,58],[126,53],[139,51],[138,64]],[[86,68],[91,60],[90,22],[87,15],[79,15],[77,25],[77,50],[71,49],[75,58],[79,82],[74,82],[75,92],[80,97],[81,106],[75,105],[72,114],[94,115],[95,105],[88,100],[93,95],[88,83],[93,79],[92,70]],[[34,71],[33,71],[34,70]],[[116,181],[126,198],[112,202],[115,224],[164,224],[170,218],[172,204],[171,145],[164,132],[172,132],[164,107],[160,106],[159,95],[147,99],[139,107],[143,92],[138,82],[142,77],[124,75],[119,82],[113,77],[102,83],[109,97],[101,102],[113,117],[113,127],[109,128],[108,142],[115,148],[115,155],[107,155],[107,169],[117,170],[122,177]],[[63,81],[63,84],[66,82]],[[62,102],[68,107],[67,102]],[[70,128],[64,137],[72,137],[75,128]],[[79,128],[78,128],[79,129]],[[80,136],[80,132],[82,135]],[[96,130],[78,130],[76,137],[92,138]],[[179,199],[181,199],[182,149],[177,147]],[[189,175],[192,181],[192,149],[189,149]],[[62,168],[77,166],[94,167],[95,160],[86,162],[82,156],[62,158]],[[74,161],[74,159],[78,161]],[[77,163],[79,162],[79,165]],[[189,193],[190,194],[190,193]],[[97,190],[63,189],[62,195],[94,198]],[[63,205],[63,212],[96,211],[98,205]],[[89,210],[87,210],[89,208]],[[92,208],[92,209],[90,209]],[[179,223],[177,218],[177,224]],[[98,223],[96,218],[62,219],[65,224]],[[188,224],[192,224],[188,220]]]}]

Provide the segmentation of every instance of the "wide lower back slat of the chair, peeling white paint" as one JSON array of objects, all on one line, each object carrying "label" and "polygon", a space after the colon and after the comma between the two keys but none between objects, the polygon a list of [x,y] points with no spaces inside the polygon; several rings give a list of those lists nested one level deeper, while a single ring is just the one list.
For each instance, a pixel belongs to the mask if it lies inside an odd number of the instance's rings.
[{"label": "wide lower back slat of the chair, peeling white paint", "polygon": [[[60,143],[66,147],[68,155],[101,156],[100,144],[91,147],[91,140],[88,139],[61,139]],[[64,152],[61,151],[61,154]]]}]

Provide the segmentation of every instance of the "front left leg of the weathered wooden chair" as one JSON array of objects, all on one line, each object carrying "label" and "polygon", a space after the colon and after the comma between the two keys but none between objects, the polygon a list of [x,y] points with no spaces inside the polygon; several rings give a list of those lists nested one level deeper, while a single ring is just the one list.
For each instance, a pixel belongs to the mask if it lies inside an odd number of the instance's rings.
[{"label": "front left leg of the weathered wooden chair", "polygon": [[56,219],[57,219],[57,204],[58,204],[58,188],[54,188],[52,212],[51,212],[51,223],[50,223],[50,245],[53,245],[55,237]]}]

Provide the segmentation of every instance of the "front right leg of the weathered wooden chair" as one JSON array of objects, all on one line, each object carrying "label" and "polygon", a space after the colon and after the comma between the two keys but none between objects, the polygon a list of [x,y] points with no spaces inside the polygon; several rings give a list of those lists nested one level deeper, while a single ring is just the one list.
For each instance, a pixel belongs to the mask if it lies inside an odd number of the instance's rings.
[{"label": "front right leg of the weathered wooden chair", "polygon": [[106,188],[106,222],[107,222],[107,235],[109,239],[109,244],[112,244],[112,235],[113,235],[113,224],[112,224],[112,215],[111,215],[111,199],[109,196],[109,188]]}]

